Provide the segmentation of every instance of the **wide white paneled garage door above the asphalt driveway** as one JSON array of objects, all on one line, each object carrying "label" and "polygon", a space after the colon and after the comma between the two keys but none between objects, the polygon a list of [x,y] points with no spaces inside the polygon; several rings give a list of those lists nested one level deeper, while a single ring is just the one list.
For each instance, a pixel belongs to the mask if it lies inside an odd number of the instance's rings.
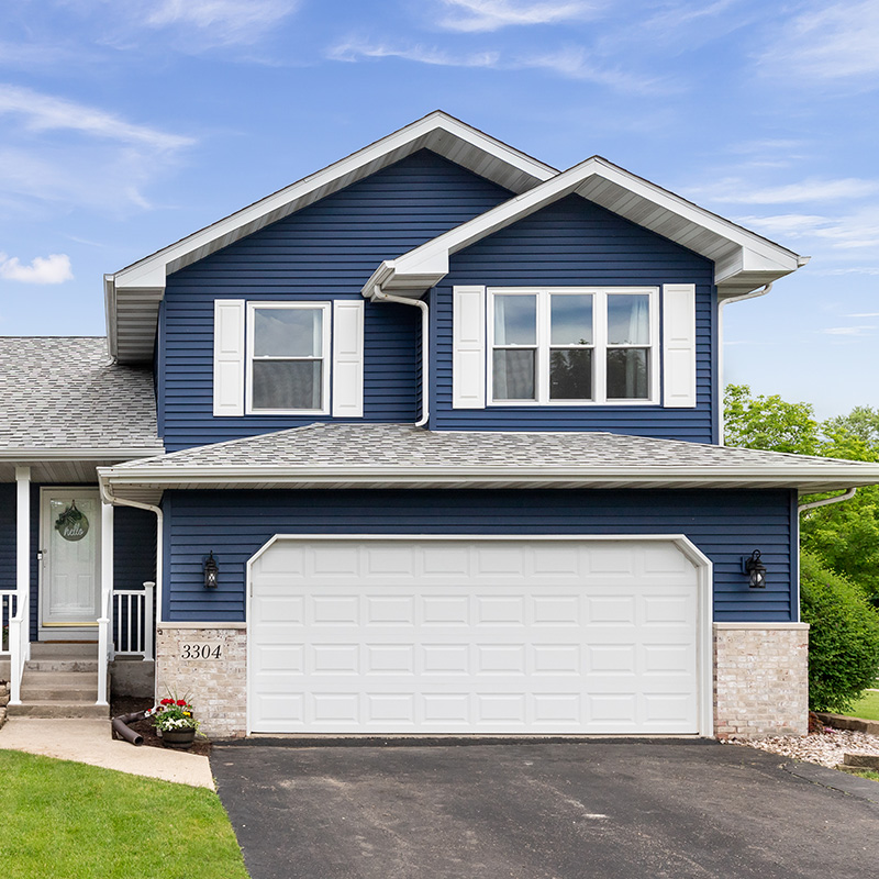
[{"label": "wide white paneled garage door above the asphalt driveway", "polygon": [[251,568],[256,733],[697,733],[671,541],[301,539]]}]

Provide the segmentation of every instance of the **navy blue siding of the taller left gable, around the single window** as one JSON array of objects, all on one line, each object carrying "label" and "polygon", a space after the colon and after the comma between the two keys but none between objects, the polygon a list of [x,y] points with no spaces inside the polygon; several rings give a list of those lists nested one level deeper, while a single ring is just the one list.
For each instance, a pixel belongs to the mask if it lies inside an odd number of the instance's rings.
[{"label": "navy blue siding of the taller left gable, around the single window", "polygon": [[[159,433],[168,452],[321,420],[213,416],[214,299],[360,299],[360,288],[382,259],[430,241],[511,194],[421,151],[171,275],[158,331]],[[366,304],[365,420],[416,420],[419,327],[418,309]]]}]

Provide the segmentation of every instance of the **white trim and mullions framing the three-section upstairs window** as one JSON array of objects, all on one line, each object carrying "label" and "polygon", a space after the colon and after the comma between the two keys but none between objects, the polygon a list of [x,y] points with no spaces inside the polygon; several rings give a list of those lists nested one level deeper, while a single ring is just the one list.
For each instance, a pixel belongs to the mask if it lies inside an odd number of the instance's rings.
[{"label": "white trim and mullions framing the three-section upstairs window", "polygon": [[[658,405],[659,396],[659,288],[658,287],[490,287],[487,297],[488,324],[488,379],[487,404],[490,407],[596,407],[596,405]],[[592,300],[592,380],[594,400],[550,400],[549,399],[549,297],[552,294],[591,294]],[[612,345],[611,347],[649,348],[650,386],[649,397],[644,400],[608,399],[607,396],[607,352],[608,352],[608,297],[625,293],[639,293],[649,297],[649,343],[645,345]],[[537,399],[536,400],[494,400],[494,297],[537,294]],[[528,347],[523,345],[522,347]],[[556,346],[564,347],[564,346]]]}]

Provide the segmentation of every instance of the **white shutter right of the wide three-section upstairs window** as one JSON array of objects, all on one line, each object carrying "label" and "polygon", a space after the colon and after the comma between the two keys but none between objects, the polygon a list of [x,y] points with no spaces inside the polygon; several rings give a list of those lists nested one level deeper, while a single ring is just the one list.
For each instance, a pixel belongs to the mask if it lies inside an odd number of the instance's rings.
[{"label": "white shutter right of the wide three-section upstairs window", "polygon": [[696,285],[663,287],[664,404],[696,405]]}]

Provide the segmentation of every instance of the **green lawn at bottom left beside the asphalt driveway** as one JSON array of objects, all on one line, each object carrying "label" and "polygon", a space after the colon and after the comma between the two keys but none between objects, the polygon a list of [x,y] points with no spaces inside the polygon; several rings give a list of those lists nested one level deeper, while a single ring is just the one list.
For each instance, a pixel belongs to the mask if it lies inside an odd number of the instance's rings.
[{"label": "green lawn at bottom left beside the asphalt driveway", "polygon": [[213,791],[0,752],[3,879],[247,879]]}]

